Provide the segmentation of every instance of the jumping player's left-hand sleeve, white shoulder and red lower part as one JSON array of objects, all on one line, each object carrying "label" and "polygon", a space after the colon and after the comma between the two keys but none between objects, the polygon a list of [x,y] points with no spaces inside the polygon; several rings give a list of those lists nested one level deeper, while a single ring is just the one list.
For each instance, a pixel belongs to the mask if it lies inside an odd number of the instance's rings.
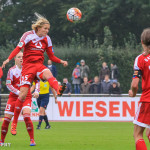
[{"label": "jumping player's left-hand sleeve, white shoulder and red lower part", "polygon": [[23,34],[17,47],[9,55],[9,60],[13,59],[21,51],[21,49],[30,41],[29,37],[29,32]]}]

